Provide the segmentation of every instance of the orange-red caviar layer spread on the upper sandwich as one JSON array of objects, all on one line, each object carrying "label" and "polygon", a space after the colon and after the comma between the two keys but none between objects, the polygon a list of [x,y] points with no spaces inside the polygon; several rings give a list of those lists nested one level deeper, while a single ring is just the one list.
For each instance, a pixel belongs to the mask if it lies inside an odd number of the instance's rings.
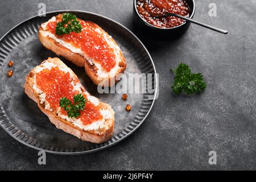
[{"label": "orange-red caviar layer spread on the upper sandwich", "polygon": [[[71,32],[68,35],[56,35],[57,38],[71,43],[77,48],[81,48],[89,57],[93,57],[94,61],[98,61],[106,72],[109,72],[115,66],[114,49],[109,47],[109,44],[104,39],[104,34],[95,31],[96,26],[90,21],[80,21],[82,31],[80,33]],[[56,33],[56,24],[61,22],[61,18],[57,16],[56,21],[47,24],[47,30],[52,34]]]}]

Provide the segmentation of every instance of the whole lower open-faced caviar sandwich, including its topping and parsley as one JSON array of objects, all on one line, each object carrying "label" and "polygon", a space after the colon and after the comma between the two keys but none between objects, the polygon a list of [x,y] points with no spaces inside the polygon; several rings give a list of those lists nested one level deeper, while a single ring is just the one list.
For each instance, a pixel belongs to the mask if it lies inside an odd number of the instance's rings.
[{"label": "whole lower open-faced caviar sandwich, including its topping and parsley", "polygon": [[60,59],[49,58],[28,73],[24,91],[58,129],[93,143],[112,137],[112,107],[90,96]]}]

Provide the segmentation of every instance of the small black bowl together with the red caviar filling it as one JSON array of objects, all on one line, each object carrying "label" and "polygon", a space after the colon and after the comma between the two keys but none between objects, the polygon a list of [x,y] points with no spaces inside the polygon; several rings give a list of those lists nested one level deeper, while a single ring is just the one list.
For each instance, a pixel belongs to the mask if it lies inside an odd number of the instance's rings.
[{"label": "small black bowl together with the red caviar filling it", "polygon": [[157,18],[154,15],[175,13],[193,18],[194,0],[134,0],[134,22],[145,33],[154,35],[177,35],[188,30],[190,22],[174,16]]}]

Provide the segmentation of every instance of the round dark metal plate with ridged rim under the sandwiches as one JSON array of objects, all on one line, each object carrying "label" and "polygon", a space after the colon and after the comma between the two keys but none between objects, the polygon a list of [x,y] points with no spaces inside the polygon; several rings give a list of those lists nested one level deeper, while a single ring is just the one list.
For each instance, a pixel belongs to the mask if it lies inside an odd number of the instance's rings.
[{"label": "round dark metal plate with ridged rim under the sandwiches", "polygon": [[[34,101],[23,91],[27,73],[47,57],[59,57],[43,48],[38,40],[38,27],[52,16],[71,12],[84,20],[92,20],[113,36],[121,47],[127,61],[128,73],[156,73],[154,63],[147,49],[127,28],[104,16],[84,11],[54,11],[45,17],[34,16],[18,24],[0,40],[0,125],[12,137],[29,147],[55,154],[85,154],[109,147],[133,133],[147,117],[156,97],[156,93],[129,94],[127,101],[122,101],[122,94],[99,94],[97,86],[86,76],[84,68],[79,68],[60,57],[80,78],[82,85],[93,96],[110,104],[115,111],[115,130],[113,138],[106,143],[93,144],[83,142],[62,130],[56,129]],[[14,67],[9,68],[9,60]],[[7,77],[7,71],[14,71],[13,77]],[[155,82],[154,82],[155,80]],[[158,82],[152,77],[153,87]],[[153,100],[148,100],[153,96]],[[133,110],[125,111],[125,105],[131,104]]]}]

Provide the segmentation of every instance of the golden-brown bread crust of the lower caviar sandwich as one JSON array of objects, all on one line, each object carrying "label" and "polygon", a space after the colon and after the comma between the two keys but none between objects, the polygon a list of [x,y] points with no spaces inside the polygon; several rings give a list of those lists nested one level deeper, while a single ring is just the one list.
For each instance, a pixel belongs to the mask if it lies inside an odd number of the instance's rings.
[{"label": "golden-brown bread crust of the lower caviar sandwich", "polygon": [[[48,60],[51,63],[54,63],[56,65],[65,65],[60,59],[58,58],[48,58]],[[42,64],[45,62],[43,61]],[[67,67],[67,66],[66,66]],[[71,69],[70,69],[71,70]],[[72,77],[75,78],[75,80],[79,79],[75,75],[75,73],[72,73]],[[112,138],[113,132],[114,132],[114,111],[112,110],[112,107],[108,104],[105,104],[103,102],[100,102],[101,109],[109,110],[112,118],[105,119],[105,129],[104,130],[89,130],[85,131],[80,129],[79,127],[72,124],[72,122],[69,122],[63,118],[60,118],[57,116],[56,111],[49,111],[44,109],[44,104],[40,104],[39,94],[35,92],[34,89],[32,89],[32,86],[34,84],[34,75],[35,75],[34,69],[28,73],[26,77],[26,81],[24,84],[24,92],[27,94],[28,97],[30,97],[33,101],[35,101],[38,104],[38,107],[44,114],[46,114],[49,118],[49,120],[58,128],[66,133],[72,134],[77,138],[80,138],[82,140],[92,142],[92,143],[103,143]],[[85,90],[84,88],[81,88],[82,90]]]}]

